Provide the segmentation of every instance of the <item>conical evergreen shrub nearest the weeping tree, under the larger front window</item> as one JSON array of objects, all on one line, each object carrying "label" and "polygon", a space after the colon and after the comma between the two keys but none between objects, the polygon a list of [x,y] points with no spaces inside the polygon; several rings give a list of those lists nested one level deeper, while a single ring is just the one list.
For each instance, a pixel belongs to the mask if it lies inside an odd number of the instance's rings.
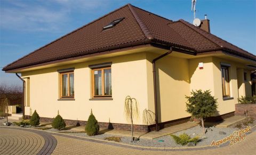
[{"label": "conical evergreen shrub nearest the weeping tree, under the larger front window", "polygon": [[98,134],[99,130],[100,130],[100,128],[98,125],[98,121],[91,112],[91,115],[89,116],[89,118],[87,120],[87,124],[85,126],[85,131],[86,131],[87,135],[94,136],[94,135]]}]

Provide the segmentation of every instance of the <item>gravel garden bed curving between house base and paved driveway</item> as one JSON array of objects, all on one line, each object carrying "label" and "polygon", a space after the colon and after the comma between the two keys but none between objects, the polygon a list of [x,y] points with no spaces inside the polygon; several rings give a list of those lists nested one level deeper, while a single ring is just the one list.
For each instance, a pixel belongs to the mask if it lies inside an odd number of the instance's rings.
[{"label": "gravel garden bed curving between house base and paved driveway", "polygon": [[[255,126],[256,121],[249,119],[250,124],[248,126]],[[206,146],[211,145],[212,141],[219,141],[223,138],[233,134],[235,131],[246,128],[247,125],[245,122],[239,123],[236,125],[233,125],[232,127],[228,128],[219,128],[219,127],[209,127],[206,128],[207,132],[206,134],[202,133],[202,127],[201,126],[195,126],[186,130],[182,130],[180,132],[173,133],[173,135],[179,136],[180,134],[186,133],[191,138],[198,136],[199,142],[196,144],[196,146]],[[179,145],[175,143],[173,138],[170,135],[165,135],[162,137],[155,138],[153,140],[140,138],[139,141],[131,142],[131,137],[129,136],[116,136],[113,134],[108,134],[109,129],[101,129],[98,135],[95,136],[88,136],[84,130],[75,130],[72,127],[67,127],[62,130],[51,128],[50,124],[41,125],[38,127],[30,127],[34,129],[41,129],[49,132],[56,132],[56,133],[63,133],[68,135],[74,135],[74,136],[81,136],[81,137],[90,137],[95,138],[99,140],[105,140],[106,138],[110,137],[110,140],[119,140],[119,143],[124,144],[130,144],[130,145],[137,145],[137,146],[148,146],[148,147],[157,147],[157,148],[182,148],[182,147],[188,147],[189,145]],[[81,129],[83,127],[81,126]],[[108,140],[106,140],[108,141]],[[228,142],[229,143],[229,142]],[[193,147],[193,146],[192,146]]]}]

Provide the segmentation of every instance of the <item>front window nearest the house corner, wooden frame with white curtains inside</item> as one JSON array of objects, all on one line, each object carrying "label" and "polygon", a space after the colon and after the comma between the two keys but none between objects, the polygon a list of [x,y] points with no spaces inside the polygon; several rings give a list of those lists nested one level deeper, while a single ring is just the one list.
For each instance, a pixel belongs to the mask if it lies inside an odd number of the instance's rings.
[{"label": "front window nearest the house corner, wooden frame with white curtains inside", "polygon": [[93,97],[111,97],[111,67],[92,69]]}]

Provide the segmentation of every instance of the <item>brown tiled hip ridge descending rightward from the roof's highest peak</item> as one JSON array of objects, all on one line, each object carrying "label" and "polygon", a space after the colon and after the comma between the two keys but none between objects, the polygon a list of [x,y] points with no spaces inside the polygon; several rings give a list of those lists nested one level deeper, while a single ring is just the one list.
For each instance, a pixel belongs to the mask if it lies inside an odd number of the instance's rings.
[{"label": "brown tiled hip ridge descending rightward from the roof's highest peak", "polygon": [[142,22],[142,20],[140,19],[139,15],[135,12],[135,10],[133,9],[133,5],[131,4],[127,4],[133,17],[135,18],[135,20],[138,22],[143,34],[145,35],[145,37],[147,39],[154,39],[153,34],[151,34],[151,32],[149,31],[149,29],[146,27],[146,25]]}]

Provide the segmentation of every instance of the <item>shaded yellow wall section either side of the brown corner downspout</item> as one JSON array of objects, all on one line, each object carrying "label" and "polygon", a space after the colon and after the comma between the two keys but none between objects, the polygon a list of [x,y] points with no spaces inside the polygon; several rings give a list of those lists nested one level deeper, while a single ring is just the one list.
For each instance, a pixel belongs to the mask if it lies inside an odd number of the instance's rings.
[{"label": "shaded yellow wall section either side of the brown corner downspout", "polygon": [[[154,110],[154,85],[152,60],[159,55],[147,53],[148,106]],[[156,62],[158,122],[188,117],[186,98],[189,95],[188,60],[172,54]]]}]

